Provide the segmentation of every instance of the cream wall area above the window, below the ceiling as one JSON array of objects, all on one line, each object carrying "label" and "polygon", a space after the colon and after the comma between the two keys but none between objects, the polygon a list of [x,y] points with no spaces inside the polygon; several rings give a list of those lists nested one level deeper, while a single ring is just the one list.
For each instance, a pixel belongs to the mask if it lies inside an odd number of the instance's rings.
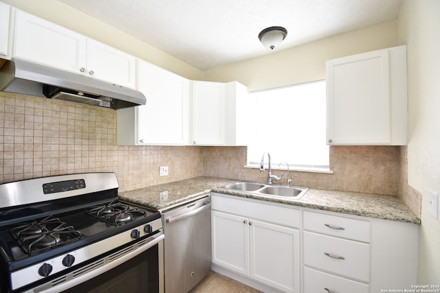
[{"label": "cream wall area above the window, below the ceiling", "polygon": [[325,60],[400,45],[397,23],[388,22],[338,34],[313,43],[273,52],[207,71],[205,80],[237,80],[249,91],[325,79]]}]

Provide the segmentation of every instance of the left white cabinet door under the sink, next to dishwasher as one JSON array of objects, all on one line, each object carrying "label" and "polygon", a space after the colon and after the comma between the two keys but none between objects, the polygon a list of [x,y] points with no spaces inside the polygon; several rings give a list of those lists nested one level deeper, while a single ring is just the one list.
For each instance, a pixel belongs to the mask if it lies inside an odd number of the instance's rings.
[{"label": "left white cabinet door under the sink, next to dishwasher", "polygon": [[249,276],[248,219],[211,211],[212,263]]}]

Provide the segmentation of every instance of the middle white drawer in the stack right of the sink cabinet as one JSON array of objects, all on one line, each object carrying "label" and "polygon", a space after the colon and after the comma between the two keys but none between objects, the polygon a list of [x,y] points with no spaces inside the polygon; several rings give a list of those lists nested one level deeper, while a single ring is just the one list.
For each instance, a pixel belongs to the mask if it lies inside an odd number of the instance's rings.
[{"label": "middle white drawer in the stack right of the sink cabinet", "polygon": [[305,265],[369,281],[370,244],[311,232],[303,236]]}]

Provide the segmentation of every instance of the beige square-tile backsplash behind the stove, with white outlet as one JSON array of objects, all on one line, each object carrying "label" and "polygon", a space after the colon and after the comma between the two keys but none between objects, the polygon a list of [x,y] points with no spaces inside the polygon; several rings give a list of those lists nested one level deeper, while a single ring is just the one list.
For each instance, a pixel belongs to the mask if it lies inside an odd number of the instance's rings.
[{"label": "beige square-tile backsplash behind the stove, with white outlet", "polygon": [[201,176],[202,163],[199,147],[117,145],[115,110],[0,92],[0,183],[115,172],[124,191]]}]

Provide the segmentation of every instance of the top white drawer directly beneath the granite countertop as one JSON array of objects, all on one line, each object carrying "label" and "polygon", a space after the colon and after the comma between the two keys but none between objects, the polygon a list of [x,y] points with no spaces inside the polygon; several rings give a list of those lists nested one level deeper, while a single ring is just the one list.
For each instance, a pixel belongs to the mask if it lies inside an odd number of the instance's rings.
[{"label": "top white drawer directly beneath the granite countertop", "polygon": [[370,222],[338,217],[336,215],[305,211],[304,230],[370,242]]}]

